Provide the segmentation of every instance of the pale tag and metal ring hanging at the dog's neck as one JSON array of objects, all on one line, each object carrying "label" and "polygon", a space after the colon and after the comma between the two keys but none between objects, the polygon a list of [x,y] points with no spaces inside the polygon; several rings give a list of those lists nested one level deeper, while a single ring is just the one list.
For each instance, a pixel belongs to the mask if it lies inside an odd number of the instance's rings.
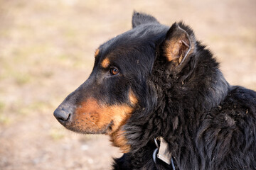
[{"label": "pale tag and metal ring hanging at the dog's neck", "polygon": [[[159,143],[158,143],[159,141]],[[169,151],[169,145],[164,140],[164,137],[156,137],[154,138],[154,143],[156,145],[156,149],[153,152],[153,160],[156,164],[156,157],[166,164],[171,164],[172,168],[175,170],[174,160],[171,157],[171,152]]]}]

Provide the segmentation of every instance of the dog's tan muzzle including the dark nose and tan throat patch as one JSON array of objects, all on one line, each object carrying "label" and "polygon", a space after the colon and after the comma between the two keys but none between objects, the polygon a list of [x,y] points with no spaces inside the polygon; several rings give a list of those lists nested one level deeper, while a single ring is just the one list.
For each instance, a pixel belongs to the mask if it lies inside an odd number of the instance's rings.
[{"label": "dog's tan muzzle including the dark nose and tan throat patch", "polygon": [[[107,105],[99,104],[95,98],[87,98],[74,108],[65,106],[64,103],[56,109],[55,117],[65,128],[73,132],[109,135],[113,145],[125,153],[129,152],[129,145],[122,126],[127,123],[134,109],[130,103]],[[62,115],[58,118],[60,113]]]}]

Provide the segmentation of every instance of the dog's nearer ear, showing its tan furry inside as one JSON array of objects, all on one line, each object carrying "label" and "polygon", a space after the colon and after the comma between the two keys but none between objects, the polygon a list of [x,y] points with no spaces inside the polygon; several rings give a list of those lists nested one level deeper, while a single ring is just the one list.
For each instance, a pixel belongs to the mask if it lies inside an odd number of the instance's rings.
[{"label": "dog's nearer ear, showing its tan furry inside", "polygon": [[166,38],[161,44],[161,52],[168,62],[181,69],[196,50],[196,39],[193,30],[183,23],[174,23],[166,33]]}]

